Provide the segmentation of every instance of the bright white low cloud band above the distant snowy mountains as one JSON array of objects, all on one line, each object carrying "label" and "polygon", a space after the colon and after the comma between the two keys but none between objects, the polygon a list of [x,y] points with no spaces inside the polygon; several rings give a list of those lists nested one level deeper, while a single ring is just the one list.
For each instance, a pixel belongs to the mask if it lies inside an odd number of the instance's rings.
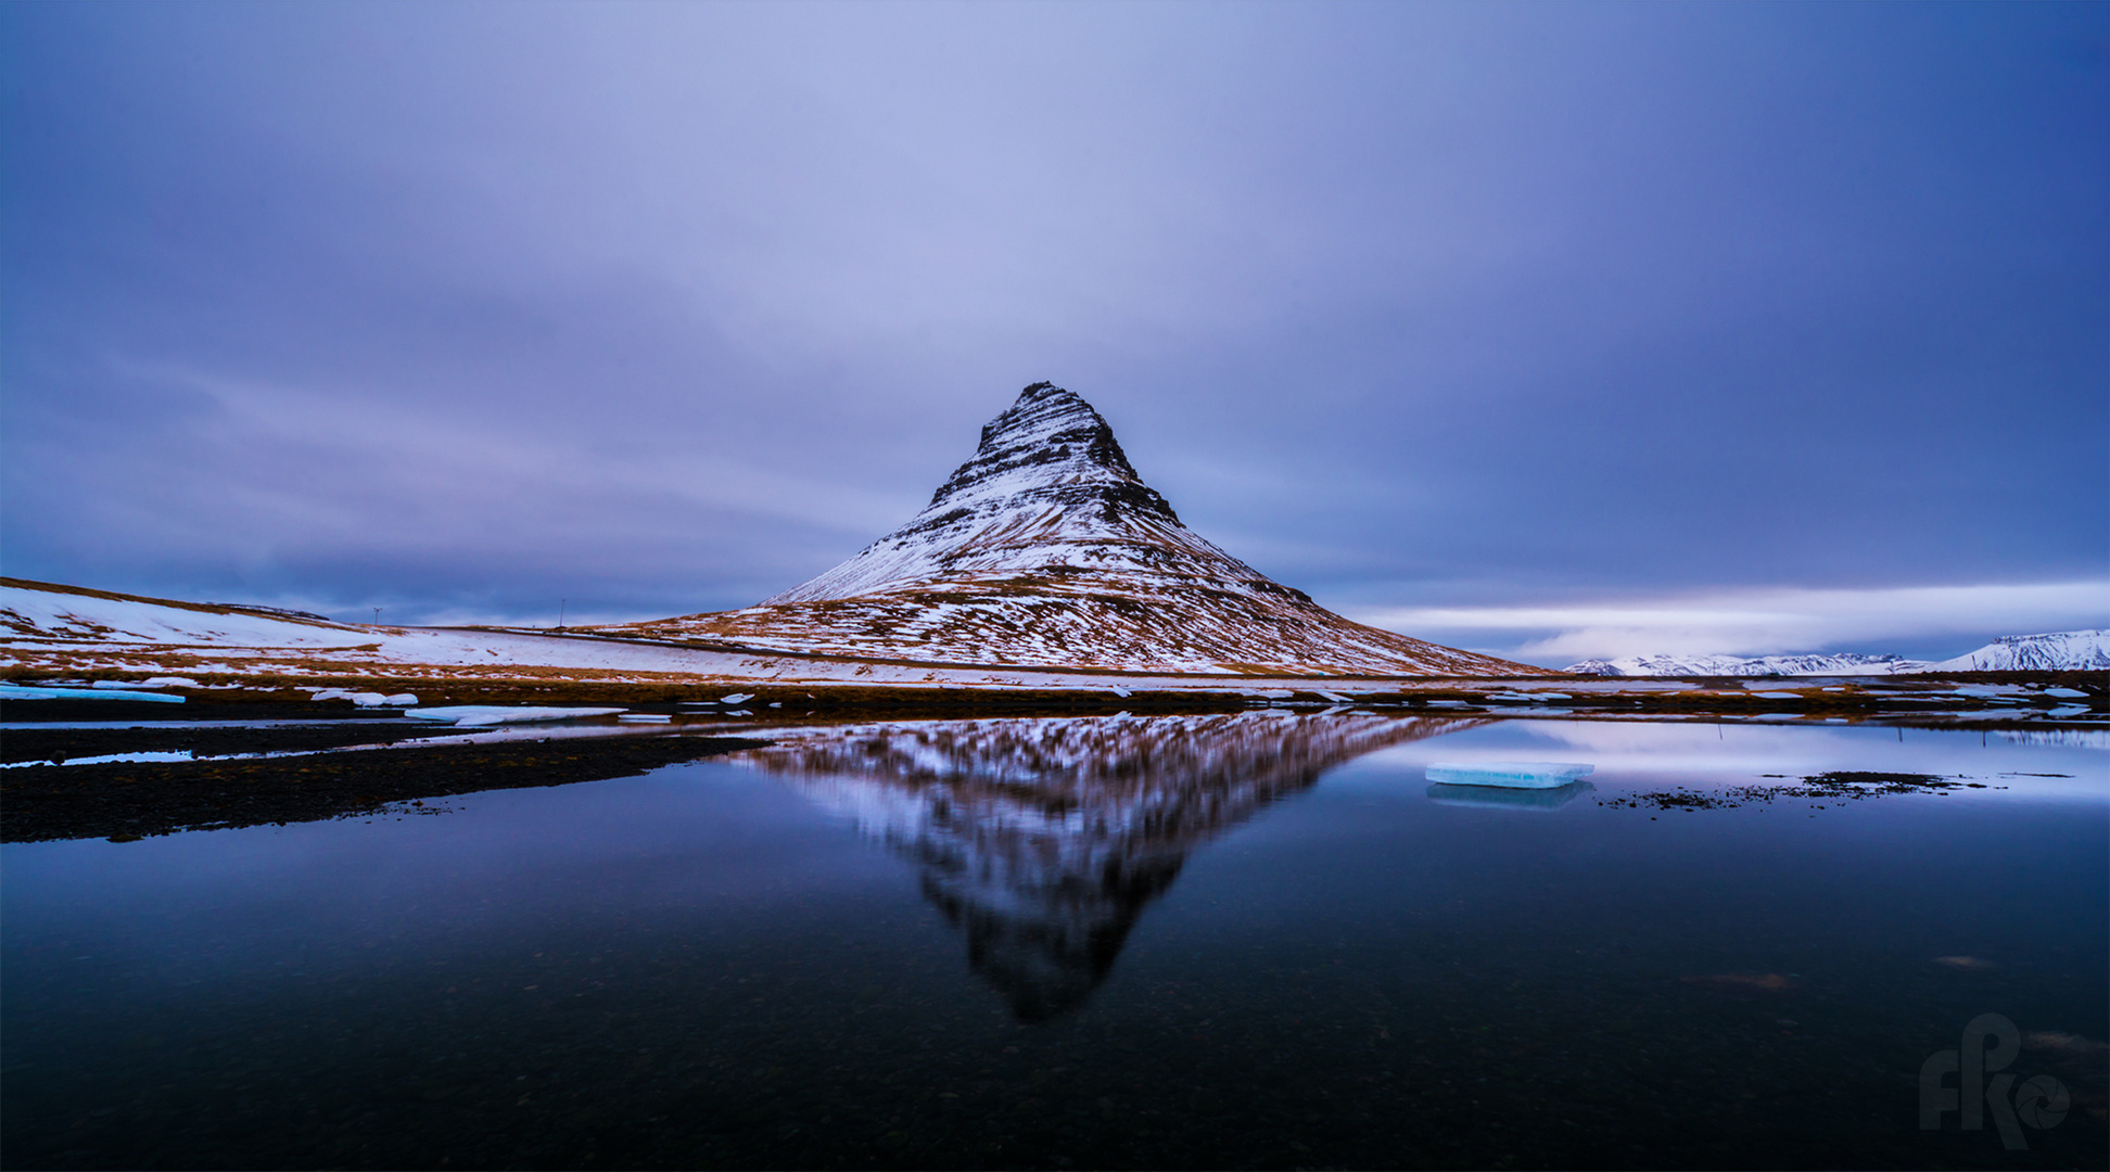
[{"label": "bright white low cloud band above the distant snowy mountains", "polygon": [[1652,653],[1861,651],[1945,660],[2002,634],[2110,628],[2110,580],[1720,590],[1559,607],[1363,609],[1350,618],[1549,668]]}]

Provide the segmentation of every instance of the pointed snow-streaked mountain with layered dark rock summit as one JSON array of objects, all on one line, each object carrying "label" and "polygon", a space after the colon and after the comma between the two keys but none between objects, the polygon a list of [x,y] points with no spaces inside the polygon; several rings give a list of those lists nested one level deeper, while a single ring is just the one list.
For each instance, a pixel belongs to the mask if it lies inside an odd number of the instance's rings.
[{"label": "pointed snow-streaked mountain with layered dark rock summit", "polygon": [[738,611],[601,628],[941,664],[1538,675],[1317,605],[1211,546],[1076,394],[1034,384],[914,521]]}]

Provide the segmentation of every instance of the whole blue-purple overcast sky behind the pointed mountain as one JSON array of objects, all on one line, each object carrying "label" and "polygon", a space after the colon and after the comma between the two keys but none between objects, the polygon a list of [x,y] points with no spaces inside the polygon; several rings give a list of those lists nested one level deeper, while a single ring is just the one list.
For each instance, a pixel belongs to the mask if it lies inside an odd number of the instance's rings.
[{"label": "whole blue-purple overcast sky behind the pointed mountain", "polygon": [[1561,664],[2110,626],[2104,4],[0,6],[0,569],[751,603],[1036,379]]}]

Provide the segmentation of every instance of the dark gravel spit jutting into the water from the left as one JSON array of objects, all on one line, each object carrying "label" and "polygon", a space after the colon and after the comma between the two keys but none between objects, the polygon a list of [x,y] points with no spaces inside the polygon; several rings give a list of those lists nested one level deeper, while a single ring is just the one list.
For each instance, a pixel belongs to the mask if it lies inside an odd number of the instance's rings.
[{"label": "dark gravel spit jutting into the water from the left", "polygon": [[[249,744],[255,744],[260,731],[272,729],[228,729]],[[405,736],[418,731],[433,729],[403,729]],[[8,740],[13,736],[11,731]],[[371,814],[388,803],[477,790],[629,778],[760,744],[766,742],[726,736],[610,736],[276,759],[25,765],[0,769],[0,841],[135,841],[177,831],[316,822]]]}]

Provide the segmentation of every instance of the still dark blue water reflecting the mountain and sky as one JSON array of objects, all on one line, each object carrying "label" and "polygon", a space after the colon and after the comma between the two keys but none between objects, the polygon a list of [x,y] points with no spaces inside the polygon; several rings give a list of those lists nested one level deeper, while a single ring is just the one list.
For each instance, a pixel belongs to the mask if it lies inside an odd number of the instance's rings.
[{"label": "still dark blue water reflecting the mountain and sky", "polygon": [[[1475,759],[1595,771],[1422,776]],[[1956,784],[1753,797],[1848,769]],[[2074,744],[867,725],[0,866],[15,1168],[2106,1161],[2110,769]],[[1979,1014],[2070,1090],[2023,1151],[1918,1126]]]}]

